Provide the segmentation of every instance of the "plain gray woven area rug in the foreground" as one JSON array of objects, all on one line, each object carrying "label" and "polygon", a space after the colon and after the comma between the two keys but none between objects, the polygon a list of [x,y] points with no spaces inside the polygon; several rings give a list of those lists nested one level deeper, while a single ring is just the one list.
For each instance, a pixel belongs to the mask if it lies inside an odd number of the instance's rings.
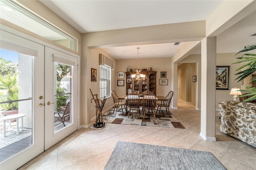
[{"label": "plain gray woven area rug in the foreground", "polygon": [[104,170],[225,170],[206,151],[118,141]]}]

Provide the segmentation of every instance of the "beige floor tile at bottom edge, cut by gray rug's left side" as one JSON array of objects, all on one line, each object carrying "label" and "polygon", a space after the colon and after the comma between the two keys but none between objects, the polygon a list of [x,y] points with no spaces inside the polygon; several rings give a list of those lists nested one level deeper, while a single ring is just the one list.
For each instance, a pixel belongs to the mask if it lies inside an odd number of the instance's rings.
[{"label": "beige floor tile at bottom edge, cut by gray rug's left side", "polygon": [[103,170],[112,152],[110,150],[88,159],[91,170]]}]

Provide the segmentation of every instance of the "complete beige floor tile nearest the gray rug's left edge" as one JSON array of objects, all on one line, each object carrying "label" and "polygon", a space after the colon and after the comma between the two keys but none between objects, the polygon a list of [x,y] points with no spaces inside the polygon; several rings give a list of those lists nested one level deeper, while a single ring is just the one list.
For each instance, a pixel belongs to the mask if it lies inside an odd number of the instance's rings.
[{"label": "complete beige floor tile nearest the gray rug's left edge", "polygon": [[87,158],[91,158],[109,150],[108,146],[103,142],[103,140],[85,145],[83,148]]}]

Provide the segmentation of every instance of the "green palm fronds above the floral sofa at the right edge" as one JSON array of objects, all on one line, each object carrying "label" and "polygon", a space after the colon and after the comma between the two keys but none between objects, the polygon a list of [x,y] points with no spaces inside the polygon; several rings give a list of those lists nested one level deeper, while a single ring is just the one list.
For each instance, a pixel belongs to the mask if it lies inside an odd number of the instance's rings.
[{"label": "green palm fronds above the floral sofa at the right edge", "polygon": [[[236,78],[236,80],[238,79],[238,81],[242,81],[246,77],[248,77],[248,76],[250,76],[250,75],[252,75],[253,73],[256,72],[256,54],[255,54],[255,51],[253,53],[247,53],[247,51],[252,51],[252,50],[255,50],[255,49],[256,49],[256,43],[254,43],[252,45],[247,45],[247,46],[244,47],[244,49],[242,49],[241,51],[236,53],[236,55],[242,54],[241,57],[237,57],[237,59],[240,59],[240,61],[237,61],[237,62],[233,63],[233,64],[242,63],[241,67],[236,69],[236,71],[244,69],[244,70],[235,74],[235,75],[239,75]],[[252,84],[252,83],[255,83],[255,82],[256,82],[256,77],[252,77],[252,79],[250,79],[249,84]],[[247,101],[250,102],[250,101],[256,100],[256,87],[246,87],[246,90],[244,89],[244,90],[240,90],[240,91],[246,93],[244,95],[241,95],[240,97],[248,97],[246,100],[244,100],[244,102],[247,102]]]}]

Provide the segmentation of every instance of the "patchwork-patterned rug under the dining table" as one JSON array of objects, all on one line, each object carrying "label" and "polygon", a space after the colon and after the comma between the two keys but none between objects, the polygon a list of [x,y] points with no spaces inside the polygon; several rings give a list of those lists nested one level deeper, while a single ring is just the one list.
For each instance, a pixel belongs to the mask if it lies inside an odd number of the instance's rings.
[{"label": "patchwork-patterned rug under the dining table", "polygon": [[[166,113],[165,110],[160,111],[160,115],[158,117],[158,113],[156,114],[156,120],[154,119],[154,115],[151,110],[146,109],[145,119],[143,119],[143,115],[141,113],[140,118],[138,117],[138,113],[136,110],[131,110],[130,117],[128,118],[128,113],[126,114],[125,109],[124,115],[122,115],[122,110],[119,108],[117,111],[115,109],[113,113],[113,109],[108,110],[104,113],[103,120],[104,123],[115,123],[115,124],[124,124],[124,125],[139,125],[139,126],[153,126],[153,127],[168,127],[168,128],[184,128],[184,126],[172,115],[172,113]],[[129,107],[128,109],[129,110]],[[142,108],[140,108],[142,112]],[[156,112],[156,109],[155,109]]]}]

